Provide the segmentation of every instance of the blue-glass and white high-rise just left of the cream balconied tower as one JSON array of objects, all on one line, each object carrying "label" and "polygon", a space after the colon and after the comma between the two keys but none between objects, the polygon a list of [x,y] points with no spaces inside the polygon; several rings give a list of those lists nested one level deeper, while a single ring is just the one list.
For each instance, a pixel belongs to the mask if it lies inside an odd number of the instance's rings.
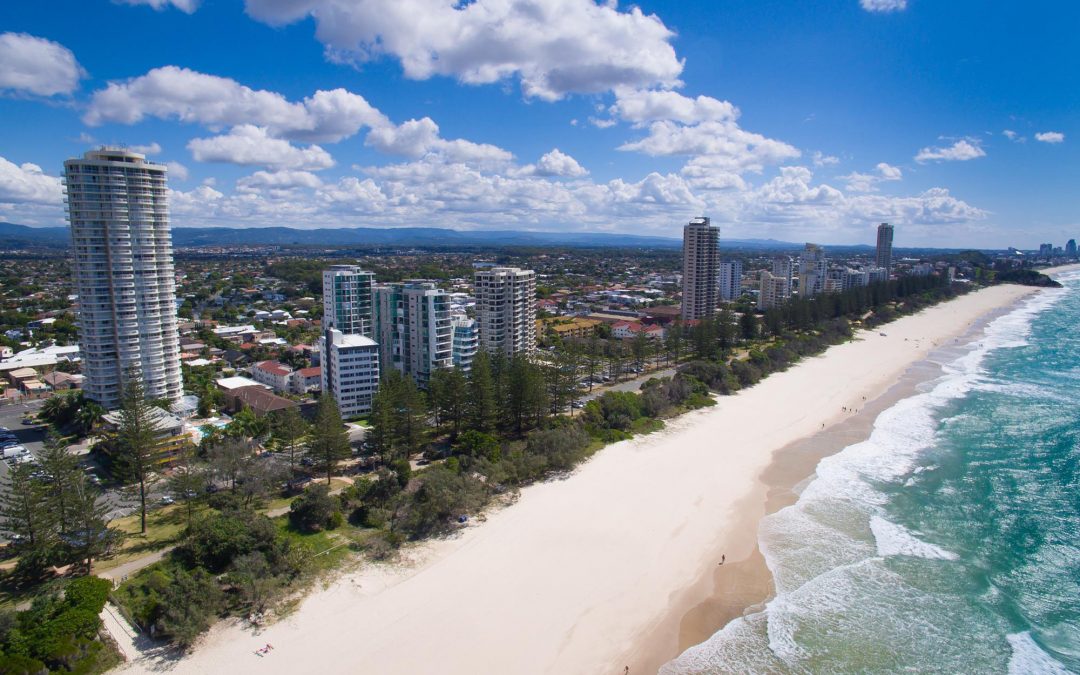
[{"label": "blue-glass and white high-rise just left of the cream balconied tower", "polygon": [[422,281],[376,286],[374,292],[382,372],[396,368],[426,387],[435,369],[451,365],[449,294]]}]

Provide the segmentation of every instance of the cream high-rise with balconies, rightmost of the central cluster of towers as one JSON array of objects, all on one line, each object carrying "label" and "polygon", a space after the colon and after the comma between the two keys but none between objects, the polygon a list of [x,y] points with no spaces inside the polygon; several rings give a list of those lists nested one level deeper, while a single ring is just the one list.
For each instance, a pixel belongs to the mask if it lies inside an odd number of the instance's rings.
[{"label": "cream high-rise with balconies, rightmost of the central cluster of towers", "polygon": [[508,355],[536,351],[536,272],[492,267],[477,269],[474,281],[481,349]]}]

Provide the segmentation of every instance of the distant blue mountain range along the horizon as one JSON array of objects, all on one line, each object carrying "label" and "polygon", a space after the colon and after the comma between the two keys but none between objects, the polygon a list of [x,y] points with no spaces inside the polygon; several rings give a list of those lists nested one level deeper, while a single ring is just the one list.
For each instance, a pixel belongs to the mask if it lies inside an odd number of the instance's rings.
[{"label": "distant blue mountain range along the horizon", "polygon": [[[0,247],[67,246],[68,228],[0,222]],[[720,240],[726,248],[787,249],[801,244],[772,239]],[[677,248],[681,240],[607,232],[528,232],[441,228],[174,228],[174,246],[580,246]]]}]

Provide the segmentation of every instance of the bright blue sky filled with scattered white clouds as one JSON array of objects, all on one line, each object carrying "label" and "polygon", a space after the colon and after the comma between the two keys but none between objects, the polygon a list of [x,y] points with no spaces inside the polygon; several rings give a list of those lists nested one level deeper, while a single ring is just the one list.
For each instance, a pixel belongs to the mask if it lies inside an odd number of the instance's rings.
[{"label": "bright blue sky filled with scattered white clouds", "polygon": [[896,246],[1080,237],[1080,3],[0,3],[0,220],[64,160],[168,166],[175,227]]}]

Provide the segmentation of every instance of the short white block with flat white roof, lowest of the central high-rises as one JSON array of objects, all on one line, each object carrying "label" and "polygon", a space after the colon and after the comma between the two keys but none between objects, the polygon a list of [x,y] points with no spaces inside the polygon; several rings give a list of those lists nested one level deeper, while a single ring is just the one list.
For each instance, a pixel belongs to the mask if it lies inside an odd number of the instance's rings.
[{"label": "short white block with flat white roof, lowest of the central high-rises", "polygon": [[369,337],[336,328],[323,335],[323,392],[333,396],[343,418],[370,413],[379,389],[379,346]]}]

